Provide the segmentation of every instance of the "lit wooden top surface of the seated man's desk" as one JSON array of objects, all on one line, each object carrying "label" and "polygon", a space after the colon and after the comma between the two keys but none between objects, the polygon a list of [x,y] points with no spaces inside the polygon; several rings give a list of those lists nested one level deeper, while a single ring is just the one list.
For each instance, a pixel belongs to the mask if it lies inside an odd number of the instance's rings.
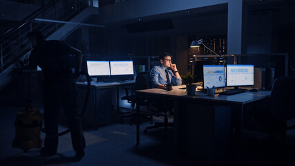
[{"label": "lit wooden top surface of the seated man's desk", "polygon": [[169,98],[186,98],[191,100],[214,100],[215,102],[230,102],[238,104],[247,104],[249,102],[254,102],[263,98],[268,98],[270,91],[258,91],[258,92],[249,92],[238,93],[235,95],[219,95],[209,96],[206,93],[196,91],[195,96],[188,96],[185,89],[185,85],[173,86],[172,91],[165,91],[164,89],[144,89],[140,91],[135,91],[136,94],[142,95],[155,95]]}]

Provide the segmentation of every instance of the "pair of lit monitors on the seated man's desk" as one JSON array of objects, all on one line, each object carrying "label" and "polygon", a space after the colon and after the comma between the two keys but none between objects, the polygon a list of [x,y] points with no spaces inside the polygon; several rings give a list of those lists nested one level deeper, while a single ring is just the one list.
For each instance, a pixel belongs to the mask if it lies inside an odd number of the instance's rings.
[{"label": "pair of lit monitors on the seated man's desk", "polygon": [[[225,72],[226,71],[226,72]],[[253,64],[204,65],[204,89],[254,85]]]}]

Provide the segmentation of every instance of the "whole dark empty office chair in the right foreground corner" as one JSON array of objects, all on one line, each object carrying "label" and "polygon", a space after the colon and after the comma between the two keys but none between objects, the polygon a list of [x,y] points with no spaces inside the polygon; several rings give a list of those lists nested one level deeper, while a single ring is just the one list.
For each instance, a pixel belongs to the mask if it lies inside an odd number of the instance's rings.
[{"label": "whole dark empty office chair in the right foreground corner", "polygon": [[[266,109],[255,109],[249,111],[256,124],[256,129],[269,134],[269,140],[248,138],[247,149],[251,153],[257,149],[267,148],[267,154],[272,158],[286,158],[285,149],[294,149],[292,142],[286,142],[287,129],[295,129],[295,125],[287,126],[287,121],[295,118],[295,77],[279,77],[274,81],[270,98],[265,104]],[[259,107],[260,103],[257,103]],[[261,104],[261,105],[263,105]],[[256,134],[255,134],[256,135]],[[250,136],[250,135],[249,135]],[[279,139],[275,139],[279,136]]]}]

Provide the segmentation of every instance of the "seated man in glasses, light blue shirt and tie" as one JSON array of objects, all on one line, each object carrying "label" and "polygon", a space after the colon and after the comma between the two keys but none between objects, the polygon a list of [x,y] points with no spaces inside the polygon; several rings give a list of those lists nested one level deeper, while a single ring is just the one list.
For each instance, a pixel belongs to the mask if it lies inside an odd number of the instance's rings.
[{"label": "seated man in glasses, light blue shirt and tie", "polygon": [[151,69],[151,84],[153,88],[167,89],[167,84],[181,85],[182,80],[176,68],[176,64],[171,63],[172,55],[166,52],[159,56],[160,66]]}]

